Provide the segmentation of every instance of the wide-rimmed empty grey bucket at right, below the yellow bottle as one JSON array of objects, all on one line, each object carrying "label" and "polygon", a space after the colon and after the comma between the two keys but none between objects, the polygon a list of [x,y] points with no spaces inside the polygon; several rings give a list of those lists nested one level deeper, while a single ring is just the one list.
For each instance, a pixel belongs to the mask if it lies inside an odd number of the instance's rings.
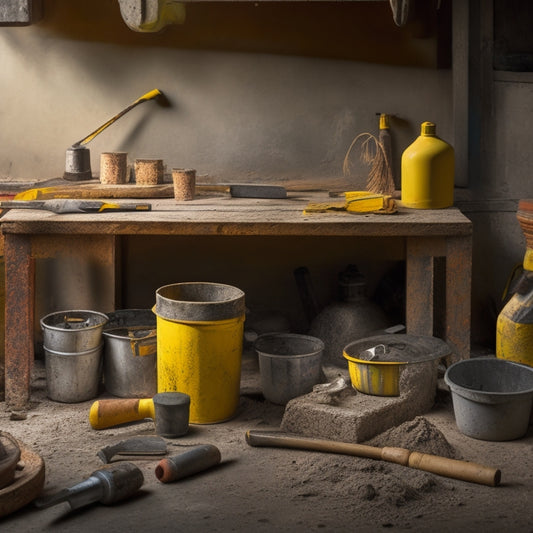
[{"label": "wide-rimmed empty grey bucket at right, below the yellow bottle", "polygon": [[490,441],[519,439],[526,434],[533,404],[533,368],[476,357],[451,365],[444,381],[452,393],[461,433]]}]

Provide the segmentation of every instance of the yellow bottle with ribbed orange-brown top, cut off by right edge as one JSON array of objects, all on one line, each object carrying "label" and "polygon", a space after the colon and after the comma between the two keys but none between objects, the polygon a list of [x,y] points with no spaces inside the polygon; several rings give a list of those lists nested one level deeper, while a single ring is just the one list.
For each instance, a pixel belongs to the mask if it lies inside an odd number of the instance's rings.
[{"label": "yellow bottle with ribbed orange-brown top, cut off by right edge", "polygon": [[496,357],[533,366],[533,200],[520,200],[518,221],[526,237],[524,274],[496,322]]}]

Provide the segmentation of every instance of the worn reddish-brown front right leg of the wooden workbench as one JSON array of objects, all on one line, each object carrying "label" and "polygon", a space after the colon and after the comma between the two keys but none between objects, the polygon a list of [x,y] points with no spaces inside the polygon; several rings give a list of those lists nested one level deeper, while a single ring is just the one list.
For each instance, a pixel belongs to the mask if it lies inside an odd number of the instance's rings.
[{"label": "worn reddish-brown front right leg of the wooden workbench", "polygon": [[453,361],[470,357],[472,237],[446,240],[446,341]]}]

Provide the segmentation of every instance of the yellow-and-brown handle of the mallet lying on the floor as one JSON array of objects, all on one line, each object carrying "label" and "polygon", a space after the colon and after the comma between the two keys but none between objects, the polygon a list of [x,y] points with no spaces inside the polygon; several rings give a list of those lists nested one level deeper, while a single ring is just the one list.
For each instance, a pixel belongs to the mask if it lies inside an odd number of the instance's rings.
[{"label": "yellow-and-brown handle of the mallet lying on the floor", "polygon": [[145,418],[155,418],[152,398],[98,400],[91,405],[89,422],[93,429],[105,429]]}]

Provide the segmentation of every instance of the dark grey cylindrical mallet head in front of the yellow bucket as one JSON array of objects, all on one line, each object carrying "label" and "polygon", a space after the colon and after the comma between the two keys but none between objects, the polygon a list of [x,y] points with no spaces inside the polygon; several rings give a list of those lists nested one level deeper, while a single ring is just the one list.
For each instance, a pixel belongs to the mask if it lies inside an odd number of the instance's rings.
[{"label": "dark grey cylindrical mallet head in front of the yellow bucket", "polygon": [[167,438],[181,437],[189,431],[191,397],[182,392],[159,392],[153,397],[155,431]]}]

